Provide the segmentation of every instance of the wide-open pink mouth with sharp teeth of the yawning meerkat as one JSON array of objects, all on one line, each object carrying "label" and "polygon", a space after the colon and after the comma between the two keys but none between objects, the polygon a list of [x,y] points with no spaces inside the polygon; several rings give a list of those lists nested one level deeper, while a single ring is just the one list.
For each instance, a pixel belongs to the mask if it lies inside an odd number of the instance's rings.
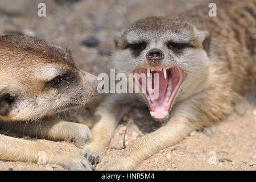
[{"label": "wide-open pink mouth with sharp teeth of the yawning meerkat", "polygon": [[[135,76],[135,80],[150,105],[152,117],[156,120],[166,118],[184,78],[181,69],[178,67],[138,68],[134,71],[135,73],[139,75],[139,77]],[[143,84],[141,74],[146,75],[146,84]]]}]

